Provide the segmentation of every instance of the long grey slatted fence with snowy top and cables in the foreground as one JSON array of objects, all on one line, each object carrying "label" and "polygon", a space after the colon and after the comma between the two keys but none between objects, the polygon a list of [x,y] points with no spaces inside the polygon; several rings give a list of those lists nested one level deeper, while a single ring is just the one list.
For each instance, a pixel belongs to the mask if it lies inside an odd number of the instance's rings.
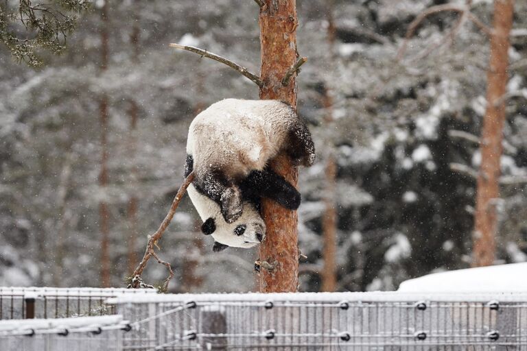
[{"label": "long grey slatted fence with snowy top and cables in the foreground", "polygon": [[526,293],[128,295],[108,302],[134,325],[123,350],[527,350]]}]

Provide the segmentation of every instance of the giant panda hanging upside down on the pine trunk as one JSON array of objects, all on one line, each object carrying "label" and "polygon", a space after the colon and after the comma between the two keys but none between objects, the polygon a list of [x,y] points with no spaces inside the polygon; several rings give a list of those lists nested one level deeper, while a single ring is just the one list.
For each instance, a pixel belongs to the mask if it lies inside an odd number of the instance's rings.
[{"label": "giant panda hanging upside down on the pine trunk", "polygon": [[283,150],[294,165],[309,167],[314,162],[309,130],[283,102],[224,99],[194,118],[185,177],[194,170],[195,178],[187,191],[203,221],[202,232],[215,240],[214,252],[254,247],[264,240],[261,197],[298,208],[298,191],[268,167]]}]

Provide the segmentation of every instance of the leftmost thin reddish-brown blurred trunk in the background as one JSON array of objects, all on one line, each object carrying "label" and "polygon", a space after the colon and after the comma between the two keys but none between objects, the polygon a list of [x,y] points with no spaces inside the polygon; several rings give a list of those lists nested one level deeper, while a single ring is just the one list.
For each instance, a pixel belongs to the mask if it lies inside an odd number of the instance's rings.
[{"label": "leftmost thin reddish-brown blurred trunk in the background", "polygon": [[[104,73],[108,67],[108,1],[104,1],[101,11],[101,63],[100,71]],[[101,127],[101,170],[99,186],[106,191],[108,185],[108,97],[102,94],[99,101],[99,123]],[[110,250],[108,228],[108,204],[99,202],[99,228],[101,230],[101,286],[110,286]]]}]

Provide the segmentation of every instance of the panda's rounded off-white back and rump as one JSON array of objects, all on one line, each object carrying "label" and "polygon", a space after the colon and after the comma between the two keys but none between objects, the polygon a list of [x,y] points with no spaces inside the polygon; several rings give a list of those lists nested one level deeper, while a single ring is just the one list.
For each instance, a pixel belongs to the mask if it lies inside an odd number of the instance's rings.
[{"label": "panda's rounded off-white back and rump", "polygon": [[244,177],[277,155],[297,118],[279,101],[224,99],[192,121],[187,154],[198,174],[221,169],[233,178]]}]

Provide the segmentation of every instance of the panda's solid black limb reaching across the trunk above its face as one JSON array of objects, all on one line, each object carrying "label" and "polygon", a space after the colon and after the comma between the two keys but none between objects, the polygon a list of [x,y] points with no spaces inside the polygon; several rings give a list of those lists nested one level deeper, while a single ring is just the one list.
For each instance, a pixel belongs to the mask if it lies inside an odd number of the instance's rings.
[{"label": "panda's solid black limb reaching across the trunk above its face", "polygon": [[270,167],[264,171],[252,171],[240,184],[244,198],[268,197],[289,210],[300,206],[300,193]]}]

